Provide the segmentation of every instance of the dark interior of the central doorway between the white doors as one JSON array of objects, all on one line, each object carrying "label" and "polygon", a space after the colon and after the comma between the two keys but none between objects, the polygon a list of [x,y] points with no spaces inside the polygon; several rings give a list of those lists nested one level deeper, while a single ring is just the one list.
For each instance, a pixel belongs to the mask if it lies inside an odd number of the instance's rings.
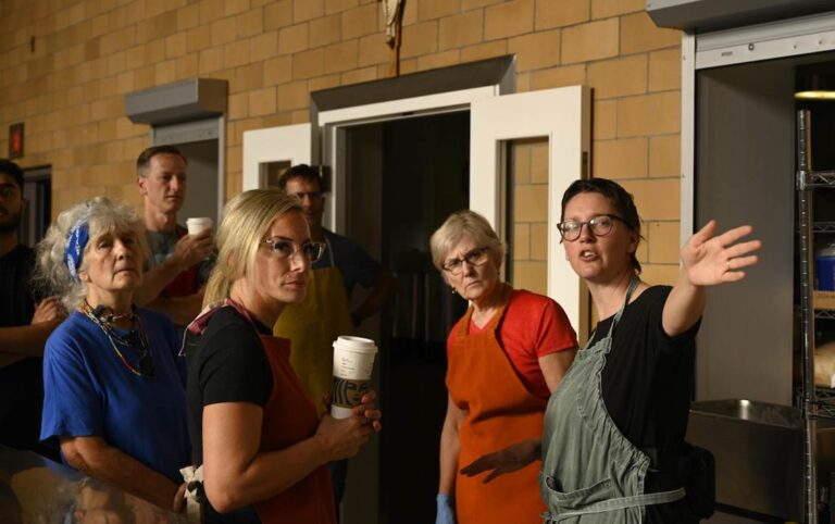
[{"label": "dark interior of the central doorway between the white doors", "polygon": [[[396,274],[397,298],[379,326],[367,327],[381,342],[385,413],[378,513],[361,516],[349,500],[344,522],[423,524],[435,519],[446,340],[466,307],[433,266],[428,242],[450,213],[469,205],[470,114],[409,117],[347,133],[346,232]],[[359,464],[351,464],[349,497]]]}]

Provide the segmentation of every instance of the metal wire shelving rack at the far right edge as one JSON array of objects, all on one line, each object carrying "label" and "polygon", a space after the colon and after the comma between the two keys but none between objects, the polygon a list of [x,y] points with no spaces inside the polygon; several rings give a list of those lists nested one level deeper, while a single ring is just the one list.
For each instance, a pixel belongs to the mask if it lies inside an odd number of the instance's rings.
[{"label": "metal wire shelving rack at the far right edge", "polygon": [[814,386],[814,321],[835,319],[835,310],[815,310],[812,301],[814,234],[835,233],[835,223],[814,222],[814,189],[835,189],[835,171],[812,171],[809,110],[797,113],[797,209],[800,252],[800,312],[803,351],[803,494],[807,524],[818,524],[817,431],[819,419],[835,420],[835,391]]}]

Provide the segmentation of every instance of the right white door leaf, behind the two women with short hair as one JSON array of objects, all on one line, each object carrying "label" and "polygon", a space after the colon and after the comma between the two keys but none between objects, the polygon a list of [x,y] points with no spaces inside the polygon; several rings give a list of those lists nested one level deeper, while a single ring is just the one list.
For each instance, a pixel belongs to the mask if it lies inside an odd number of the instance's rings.
[{"label": "right white door leaf, behind the two women with short hair", "polygon": [[470,105],[470,209],[507,238],[504,150],[510,140],[548,139],[548,296],[587,333],[587,294],[563,257],[557,222],[565,188],[587,174],[590,96],[583,86],[504,95]]}]

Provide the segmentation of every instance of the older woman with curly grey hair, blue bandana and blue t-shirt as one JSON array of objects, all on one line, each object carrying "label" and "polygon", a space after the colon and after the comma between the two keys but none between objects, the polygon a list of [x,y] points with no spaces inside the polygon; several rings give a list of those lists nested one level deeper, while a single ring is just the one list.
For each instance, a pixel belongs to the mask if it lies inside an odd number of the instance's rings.
[{"label": "older woman with curly grey hair, blue bandana and blue t-shirt", "polygon": [[47,340],[40,438],[68,465],[179,511],[186,370],[174,325],[133,304],[145,238],[129,208],[97,198],[61,213],[39,246],[41,278],[73,312]]}]

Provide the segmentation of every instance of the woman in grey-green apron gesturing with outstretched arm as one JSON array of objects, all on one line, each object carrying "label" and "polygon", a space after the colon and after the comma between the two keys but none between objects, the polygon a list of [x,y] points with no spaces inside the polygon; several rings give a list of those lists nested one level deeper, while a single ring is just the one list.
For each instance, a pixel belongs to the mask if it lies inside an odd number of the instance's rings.
[{"label": "woman in grey-green apron gesturing with outstretched arm", "polygon": [[541,441],[466,472],[500,473],[541,456],[548,523],[698,522],[712,512],[710,460],[684,436],[705,291],[743,279],[760,241],[740,241],[747,225],[715,235],[711,221],[682,248],[675,285],[650,286],[635,255],[640,219],[616,183],[573,183],[558,227],[601,320],[551,396]]}]

